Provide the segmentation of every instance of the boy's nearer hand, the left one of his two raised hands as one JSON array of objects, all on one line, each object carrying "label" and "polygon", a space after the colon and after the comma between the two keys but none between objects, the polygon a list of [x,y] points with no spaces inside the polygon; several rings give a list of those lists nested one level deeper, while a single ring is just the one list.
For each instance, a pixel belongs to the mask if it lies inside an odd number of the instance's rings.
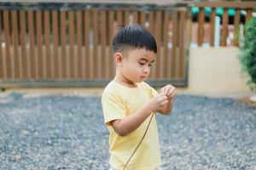
[{"label": "boy's nearer hand, the left one of his two raised hands", "polygon": [[160,111],[168,103],[166,94],[156,94],[154,98],[149,102],[152,112]]}]

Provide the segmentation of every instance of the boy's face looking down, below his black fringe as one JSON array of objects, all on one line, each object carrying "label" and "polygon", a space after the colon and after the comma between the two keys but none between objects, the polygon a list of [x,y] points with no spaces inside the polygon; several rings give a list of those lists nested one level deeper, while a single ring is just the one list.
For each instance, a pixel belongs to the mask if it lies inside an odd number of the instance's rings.
[{"label": "boy's face looking down, below his black fringe", "polygon": [[119,63],[121,77],[128,82],[143,82],[154,62],[154,52],[145,48],[132,48]]}]

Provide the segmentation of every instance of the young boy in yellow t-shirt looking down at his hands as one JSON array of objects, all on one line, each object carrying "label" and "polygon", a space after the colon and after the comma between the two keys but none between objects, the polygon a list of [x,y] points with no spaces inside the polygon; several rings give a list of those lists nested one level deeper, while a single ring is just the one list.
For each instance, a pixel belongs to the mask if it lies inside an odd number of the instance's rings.
[{"label": "young boy in yellow t-shirt looking down at his hands", "polygon": [[156,53],[154,37],[141,26],[123,26],[113,38],[116,74],[102,94],[104,122],[110,132],[110,169],[160,167],[155,113],[170,113],[175,88],[166,85],[158,94],[143,82]]}]

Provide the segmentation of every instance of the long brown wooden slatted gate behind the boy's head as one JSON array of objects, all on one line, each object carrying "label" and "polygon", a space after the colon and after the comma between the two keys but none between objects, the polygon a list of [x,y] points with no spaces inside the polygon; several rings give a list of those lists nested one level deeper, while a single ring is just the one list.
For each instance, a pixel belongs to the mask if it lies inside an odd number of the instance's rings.
[{"label": "long brown wooden slatted gate behind the boy's head", "polygon": [[114,74],[117,26],[154,34],[159,52],[148,82],[187,83],[187,7],[145,4],[0,3],[0,86],[103,86]]}]

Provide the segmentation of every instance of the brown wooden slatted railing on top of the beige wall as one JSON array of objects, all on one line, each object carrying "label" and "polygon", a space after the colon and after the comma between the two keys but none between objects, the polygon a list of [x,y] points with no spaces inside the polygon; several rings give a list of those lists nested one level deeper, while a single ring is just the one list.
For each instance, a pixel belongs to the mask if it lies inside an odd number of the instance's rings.
[{"label": "brown wooden slatted railing on top of the beige wall", "polygon": [[[197,22],[193,22],[191,26],[191,31],[193,32],[197,29],[197,37],[191,35],[192,42],[196,41],[198,46],[202,46],[204,42],[214,46],[215,41],[219,41],[220,46],[239,46],[241,42],[241,30],[240,27],[244,26],[247,20],[253,16],[253,8],[256,8],[256,2],[202,2],[202,3],[193,3],[195,7],[199,7],[199,14],[197,16]],[[206,14],[204,8],[212,8],[211,14],[209,14],[209,21],[206,21]],[[216,19],[216,8],[224,8],[224,14],[221,19],[220,26],[220,39],[215,40],[214,36],[216,33],[215,29],[215,19]],[[233,20],[228,15],[228,8],[235,8],[236,14]],[[245,11],[246,19],[244,22],[241,20],[241,10]],[[229,24],[231,23],[231,24]],[[193,27],[194,26],[194,27]],[[208,34],[206,34],[206,32]],[[232,33],[232,41],[230,44],[227,44],[227,39],[229,38],[229,33]],[[193,38],[194,36],[194,38]]]}]

